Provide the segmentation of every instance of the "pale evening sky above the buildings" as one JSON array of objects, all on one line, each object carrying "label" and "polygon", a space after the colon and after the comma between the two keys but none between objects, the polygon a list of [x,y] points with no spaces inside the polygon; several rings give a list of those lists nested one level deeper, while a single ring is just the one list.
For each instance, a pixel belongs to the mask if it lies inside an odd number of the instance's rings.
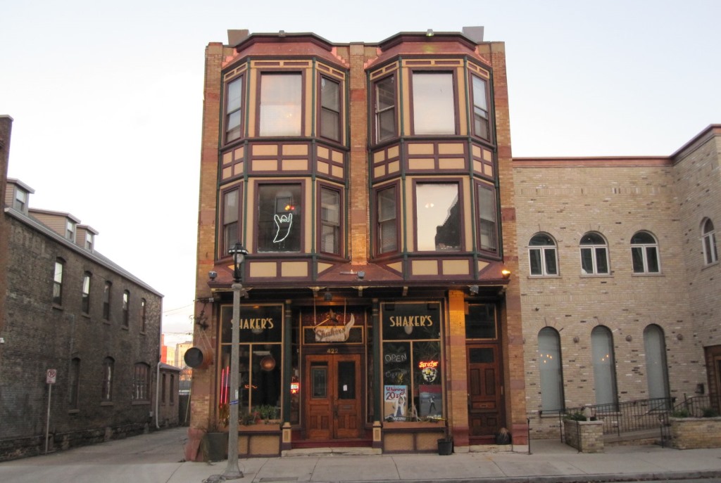
[{"label": "pale evening sky above the buildings", "polygon": [[671,155],[721,123],[718,0],[0,0],[8,175],[164,294],[190,340],[203,66],[227,30],[505,42],[513,155]]}]

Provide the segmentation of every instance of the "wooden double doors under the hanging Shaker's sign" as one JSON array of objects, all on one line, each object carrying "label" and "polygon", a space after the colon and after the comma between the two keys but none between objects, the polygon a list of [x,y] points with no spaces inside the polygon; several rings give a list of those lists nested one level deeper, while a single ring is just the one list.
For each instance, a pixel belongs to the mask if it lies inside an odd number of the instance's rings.
[{"label": "wooden double doors under the hanging Shaker's sign", "polygon": [[361,436],[361,355],[307,356],[306,438]]}]

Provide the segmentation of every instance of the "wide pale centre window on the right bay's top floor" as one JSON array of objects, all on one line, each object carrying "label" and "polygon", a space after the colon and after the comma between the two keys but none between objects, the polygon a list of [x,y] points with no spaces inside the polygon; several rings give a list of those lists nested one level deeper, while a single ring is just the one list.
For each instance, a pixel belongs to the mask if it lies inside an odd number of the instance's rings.
[{"label": "wide pale centre window on the right bay's top floor", "polygon": [[415,72],[413,81],[413,133],[456,134],[453,74]]}]

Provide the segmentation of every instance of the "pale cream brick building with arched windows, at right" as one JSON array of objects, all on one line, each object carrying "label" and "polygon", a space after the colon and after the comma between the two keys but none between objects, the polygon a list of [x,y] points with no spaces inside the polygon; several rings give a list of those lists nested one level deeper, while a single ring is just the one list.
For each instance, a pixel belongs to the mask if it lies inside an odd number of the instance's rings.
[{"label": "pale cream brick building with arched windows, at right", "polygon": [[670,156],[514,158],[532,437],[564,407],[720,408],[720,152],[712,125]]}]

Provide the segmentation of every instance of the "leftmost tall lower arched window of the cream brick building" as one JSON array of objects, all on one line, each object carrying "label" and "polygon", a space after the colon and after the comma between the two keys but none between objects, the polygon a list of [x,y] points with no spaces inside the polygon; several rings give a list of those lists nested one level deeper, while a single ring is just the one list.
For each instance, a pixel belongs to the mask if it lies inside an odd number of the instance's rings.
[{"label": "leftmost tall lower arched window of the cream brick building", "polygon": [[541,378],[541,410],[564,409],[561,338],[554,328],[539,332],[539,375]]}]

